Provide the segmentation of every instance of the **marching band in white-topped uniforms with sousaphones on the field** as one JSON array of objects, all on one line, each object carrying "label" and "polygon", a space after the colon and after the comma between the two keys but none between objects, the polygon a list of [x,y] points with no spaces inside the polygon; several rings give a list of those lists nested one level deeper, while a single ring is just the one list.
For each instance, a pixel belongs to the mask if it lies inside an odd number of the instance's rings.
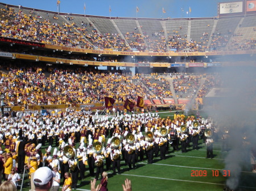
[{"label": "marching band in white-topped uniforms with sousaphones on the field", "polygon": [[[3,136],[0,138],[7,152],[16,151],[18,160],[23,160],[18,162],[19,173],[23,170],[22,165],[36,159],[38,167],[57,167],[63,179],[64,173],[70,171],[74,177],[72,187],[76,188],[75,180],[85,178],[87,167],[90,176],[95,175],[96,179],[102,176],[104,165],[106,170],[113,169],[113,173],[117,171],[120,174],[122,159],[129,169],[136,168],[135,163],[143,160],[144,156],[148,164],[152,164],[154,155],[157,158],[159,151],[160,159],[166,159],[170,145],[174,150],[179,150],[181,145],[181,151],[186,152],[192,139],[193,149],[198,149],[200,135],[205,139],[212,158],[210,133],[208,137],[202,134],[214,131],[210,124],[208,119],[194,116],[184,120],[184,116],[176,115],[171,120],[154,113],[121,114],[111,120],[108,117],[94,119],[84,111],[69,110],[43,117],[27,113],[20,117],[2,118],[0,130]],[[46,142],[49,146],[43,155],[41,147]],[[20,143],[24,147],[19,147]],[[23,152],[25,159],[19,158],[19,153]]]}]

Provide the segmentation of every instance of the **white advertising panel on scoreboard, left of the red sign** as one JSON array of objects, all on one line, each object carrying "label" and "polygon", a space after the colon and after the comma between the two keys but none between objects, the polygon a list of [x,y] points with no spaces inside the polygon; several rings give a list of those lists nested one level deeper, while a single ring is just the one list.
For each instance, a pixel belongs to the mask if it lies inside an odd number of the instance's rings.
[{"label": "white advertising panel on scoreboard, left of the red sign", "polygon": [[243,2],[220,3],[220,14],[243,12]]}]

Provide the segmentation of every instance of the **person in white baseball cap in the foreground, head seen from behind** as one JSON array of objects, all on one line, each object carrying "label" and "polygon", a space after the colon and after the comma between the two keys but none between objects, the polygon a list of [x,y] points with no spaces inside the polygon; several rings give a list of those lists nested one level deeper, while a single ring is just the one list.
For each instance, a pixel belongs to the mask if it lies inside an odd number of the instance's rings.
[{"label": "person in white baseball cap in the foreground, head seen from behind", "polygon": [[[52,187],[55,173],[48,167],[40,167],[34,173],[33,182],[36,191],[48,191]],[[32,190],[32,189],[31,189]]]}]

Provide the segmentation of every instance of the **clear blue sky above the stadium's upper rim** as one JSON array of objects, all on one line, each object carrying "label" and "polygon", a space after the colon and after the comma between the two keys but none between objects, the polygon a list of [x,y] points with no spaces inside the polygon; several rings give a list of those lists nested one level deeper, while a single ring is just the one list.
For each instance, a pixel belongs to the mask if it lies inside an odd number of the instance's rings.
[{"label": "clear blue sky above the stadium's upper rim", "polygon": [[[217,16],[218,2],[232,0],[60,0],[60,12],[138,18],[191,18]],[[233,0],[237,1],[237,0]],[[242,1],[242,0],[241,0]],[[57,0],[0,0],[2,3],[22,5],[48,11],[57,11]],[[111,12],[109,12],[109,6]],[[136,12],[138,6],[139,12]],[[163,13],[166,10],[166,13]]]}]

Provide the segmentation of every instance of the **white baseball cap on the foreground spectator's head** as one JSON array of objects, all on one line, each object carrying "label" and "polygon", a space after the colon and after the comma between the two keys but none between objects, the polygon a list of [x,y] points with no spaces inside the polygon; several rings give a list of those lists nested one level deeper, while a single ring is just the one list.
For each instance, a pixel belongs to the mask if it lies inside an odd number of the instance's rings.
[{"label": "white baseball cap on the foreground spectator's head", "polygon": [[45,185],[52,177],[55,177],[55,172],[51,171],[48,167],[40,167],[34,173],[34,184]]}]

